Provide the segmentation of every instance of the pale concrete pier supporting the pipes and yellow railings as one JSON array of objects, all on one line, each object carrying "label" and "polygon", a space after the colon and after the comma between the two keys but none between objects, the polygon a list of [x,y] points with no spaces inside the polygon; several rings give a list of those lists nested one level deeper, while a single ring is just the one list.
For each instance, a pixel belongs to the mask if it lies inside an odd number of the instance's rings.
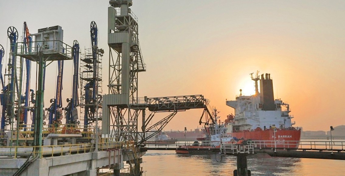
[{"label": "pale concrete pier supporting the pipes and yellow railings", "polygon": [[[137,153],[138,157],[144,154],[145,152]],[[0,175],[12,176],[26,160],[23,158],[0,158]],[[124,168],[124,161],[128,161],[124,149],[44,157],[29,165],[21,176],[96,176],[97,168],[109,165],[115,166],[117,174],[119,174],[120,169]]]}]

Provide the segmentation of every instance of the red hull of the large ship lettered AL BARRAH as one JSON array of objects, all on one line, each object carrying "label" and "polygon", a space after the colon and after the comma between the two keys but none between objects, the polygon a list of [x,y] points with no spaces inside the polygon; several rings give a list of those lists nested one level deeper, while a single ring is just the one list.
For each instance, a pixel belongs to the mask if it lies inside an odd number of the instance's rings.
[{"label": "red hull of the large ship lettered AL BARRAH", "polygon": [[[259,130],[259,131],[242,131],[233,132],[231,136],[238,139],[250,139],[252,141],[262,142],[264,146],[256,147],[275,147],[275,148],[298,148],[300,140],[300,130]],[[270,141],[270,142],[268,142]],[[273,141],[273,142],[272,142]],[[275,144],[274,144],[275,141]],[[272,144],[269,144],[272,143]]]}]

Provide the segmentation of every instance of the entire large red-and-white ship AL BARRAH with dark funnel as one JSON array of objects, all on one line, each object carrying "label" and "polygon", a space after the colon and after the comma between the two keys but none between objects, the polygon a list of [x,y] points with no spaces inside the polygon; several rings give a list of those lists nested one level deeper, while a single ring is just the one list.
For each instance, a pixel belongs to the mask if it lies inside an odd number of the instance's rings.
[{"label": "entire large red-and-white ship AL BARRAH with dark funnel", "polygon": [[[278,148],[298,148],[301,131],[292,125],[289,115],[289,104],[280,99],[274,99],[273,81],[270,74],[260,76],[258,72],[252,80],[255,81],[255,94],[236,96],[234,101],[226,101],[226,105],[235,109],[235,115],[228,115],[227,132],[236,138],[253,141],[277,141]],[[258,91],[260,81],[260,92]],[[289,145],[287,145],[289,144]],[[273,146],[266,146],[273,147]]]}]

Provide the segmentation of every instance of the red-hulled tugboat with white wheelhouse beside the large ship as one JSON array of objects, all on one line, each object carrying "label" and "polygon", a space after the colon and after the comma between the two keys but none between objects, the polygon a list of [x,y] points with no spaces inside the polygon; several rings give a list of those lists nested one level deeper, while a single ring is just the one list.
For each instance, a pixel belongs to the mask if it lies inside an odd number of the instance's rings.
[{"label": "red-hulled tugboat with white wheelhouse beside the large ship", "polygon": [[[214,118],[217,122],[217,109],[214,109]],[[224,123],[211,124],[205,126],[205,137],[197,138],[193,145],[179,146],[175,152],[177,154],[211,154],[219,152],[221,144],[235,144],[237,138],[231,137],[227,134],[228,128]]]}]

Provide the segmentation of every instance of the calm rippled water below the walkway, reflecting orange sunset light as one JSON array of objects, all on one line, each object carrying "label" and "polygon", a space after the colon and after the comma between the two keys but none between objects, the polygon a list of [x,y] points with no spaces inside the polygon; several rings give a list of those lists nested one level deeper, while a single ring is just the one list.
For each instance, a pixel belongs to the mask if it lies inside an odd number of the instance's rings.
[{"label": "calm rippled water below the walkway, reflecting orange sunset light", "polygon": [[[179,155],[175,151],[148,151],[142,157],[145,176],[233,175],[236,157],[227,155]],[[248,156],[254,176],[341,176],[345,161],[308,158],[280,158],[267,154]]]}]

